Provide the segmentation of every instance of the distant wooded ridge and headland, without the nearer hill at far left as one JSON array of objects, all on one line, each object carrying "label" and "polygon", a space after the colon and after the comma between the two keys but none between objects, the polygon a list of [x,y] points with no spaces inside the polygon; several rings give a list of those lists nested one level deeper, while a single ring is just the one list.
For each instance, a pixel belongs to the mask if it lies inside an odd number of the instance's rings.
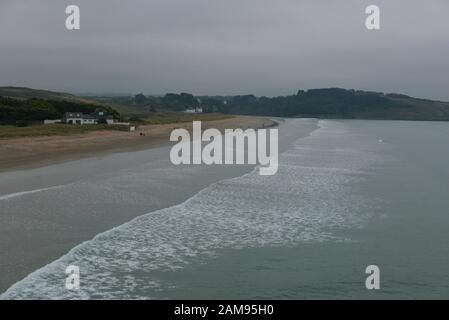
[{"label": "distant wooded ridge and headland, without the nearer hill at far left", "polygon": [[449,121],[449,102],[341,88],[299,90],[297,94],[273,98],[250,94],[194,97],[187,93],[165,96],[140,93],[135,97],[103,99],[133,114],[150,114],[151,109],[184,111],[200,106],[203,112],[258,116]]}]

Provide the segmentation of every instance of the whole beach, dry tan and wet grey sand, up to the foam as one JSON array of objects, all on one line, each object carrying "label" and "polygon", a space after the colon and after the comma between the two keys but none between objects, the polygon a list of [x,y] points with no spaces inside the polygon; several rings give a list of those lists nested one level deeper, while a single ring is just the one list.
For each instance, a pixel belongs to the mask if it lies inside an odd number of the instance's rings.
[{"label": "whole beach, dry tan and wet grey sand, up to the foam", "polygon": [[[203,128],[273,124],[239,116],[203,122]],[[170,131],[191,126],[141,127],[144,137],[112,131],[1,141],[0,293],[100,232],[252,170],[252,165],[171,165]],[[290,128],[279,126],[281,133],[284,127]],[[281,141],[315,128],[316,121],[292,125],[285,132],[294,134]]]}]

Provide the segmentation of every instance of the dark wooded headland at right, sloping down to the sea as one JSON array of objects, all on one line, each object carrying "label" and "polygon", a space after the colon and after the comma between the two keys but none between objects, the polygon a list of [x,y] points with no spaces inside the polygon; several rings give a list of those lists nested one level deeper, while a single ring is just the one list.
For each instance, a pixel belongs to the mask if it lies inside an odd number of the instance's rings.
[{"label": "dark wooded headland at right, sloping down to the sea", "polygon": [[275,98],[235,96],[220,109],[282,117],[449,121],[449,102],[340,88],[300,90],[296,95]]}]

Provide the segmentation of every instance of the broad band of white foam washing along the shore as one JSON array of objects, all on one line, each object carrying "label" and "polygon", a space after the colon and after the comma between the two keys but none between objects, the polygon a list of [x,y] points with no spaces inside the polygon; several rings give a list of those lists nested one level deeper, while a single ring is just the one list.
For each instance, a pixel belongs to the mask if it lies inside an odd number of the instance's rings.
[{"label": "broad band of white foam washing along the shore", "polygon": [[[320,127],[280,155],[276,175],[255,170],[220,181],[180,205],[99,234],[0,298],[151,298],[173,285],[158,272],[207,261],[220,249],[347,240],[332,232],[360,227],[375,211],[376,203],[354,185],[383,161],[375,152],[381,146],[338,122],[320,121]],[[64,286],[64,270],[72,264],[80,267],[79,291]]]}]

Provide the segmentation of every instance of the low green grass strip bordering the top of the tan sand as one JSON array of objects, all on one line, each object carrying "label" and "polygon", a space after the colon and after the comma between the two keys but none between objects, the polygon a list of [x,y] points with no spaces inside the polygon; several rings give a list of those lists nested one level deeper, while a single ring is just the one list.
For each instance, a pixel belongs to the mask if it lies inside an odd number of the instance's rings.
[{"label": "low green grass strip bordering the top of the tan sand", "polygon": [[[216,113],[155,113],[152,116],[146,116],[144,118],[138,118],[138,121],[132,121],[137,126],[139,125],[151,125],[151,124],[168,124],[168,123],[180,123],[191,122],[194,120],[212,121],[231,118],[232,116],[216,114]],[[21,137],[39,137],[39,136],[61,136],[61,135],[73,135],[82,134],[90,131],[98,130],[123,130],[123,126],[114,126],[106,124],[98,125],[70,125],[70,124],[36,124],[27,127],[17,127],[9,125],[0,125],[0,139],[21,138]]]}]

